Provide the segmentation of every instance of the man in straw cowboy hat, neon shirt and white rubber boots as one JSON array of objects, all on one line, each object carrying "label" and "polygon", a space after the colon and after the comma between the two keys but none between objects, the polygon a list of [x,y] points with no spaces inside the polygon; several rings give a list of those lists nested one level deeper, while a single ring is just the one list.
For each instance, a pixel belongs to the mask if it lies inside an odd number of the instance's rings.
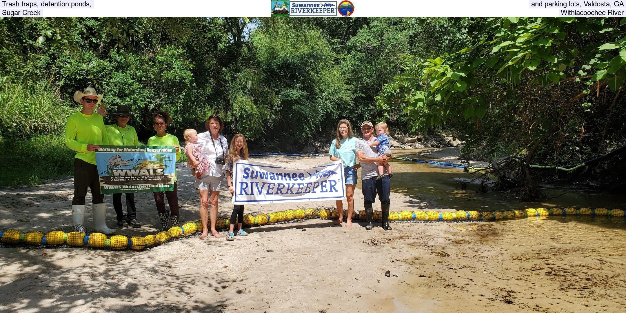
[{"label": "man in straw cowboy hat, neon shirt and white rubber boots", "polygon": [[[72,213],[74,230],[86,232],[85,196],[87,188],[91,189],[93,205],[93,224],[96,232],[115,233],[115,229],[106,227],[105,196],[100,192],[100,178],[96,167],[96,149],[100,145],[108,145],[105,123],[102,115],[94,112],[103,95],[88,87],[85,91],[76,91],[74,101],[83,105],[80,112],[69,116],[65,125],[65,145],[76,151],[74,156],[74,198]],[[101,105],[98,111],[104,110]]]}]

